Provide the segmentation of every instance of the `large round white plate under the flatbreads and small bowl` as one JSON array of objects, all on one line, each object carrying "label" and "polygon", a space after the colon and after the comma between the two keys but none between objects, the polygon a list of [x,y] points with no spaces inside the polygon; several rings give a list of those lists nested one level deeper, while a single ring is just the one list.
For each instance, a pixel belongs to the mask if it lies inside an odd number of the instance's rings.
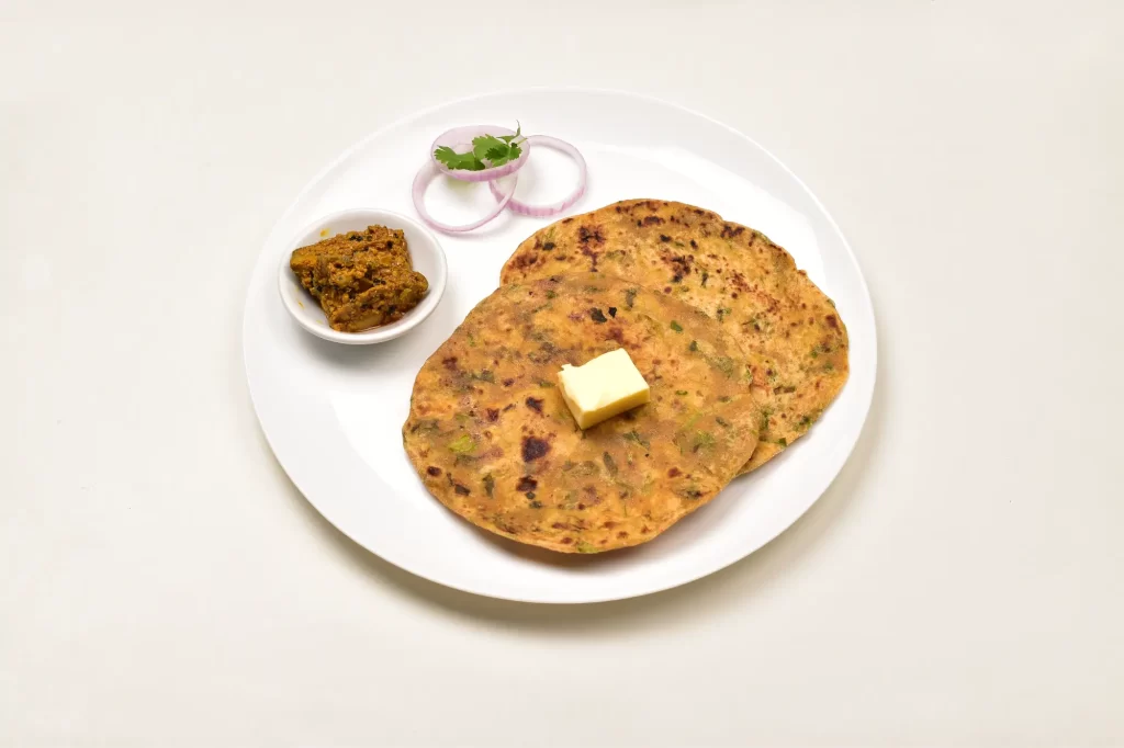
[{"label": "large round white plate under the flatbreads and small bowl", "polygon": [[[439,133],[495,124],[578,146],[589,189],[569,213],[626,198],[678,200],[763,231],[831,297],[851,338],[851,377],[791,449],[736,478],[713,502],[636,548],[580,556],[542,551],[478,530],[423,487],[401,425],[425,359],[499,283],[504,261],[549,220],[501,215],[463,236],[438,235],[448,256],[444,299],[417,328],[379,346],[342,346],[302,330],[282,307],[277,267],[300,229],[348,208],[414,216],[410,183]],[[535,152],[517,197],[552,202],[575,170]],[[437,220],[466,222],[493,198],[486,185],[441,180]],[[244,320],[250,392],[292,482],[353,540],[414,574],[495,598],[579,603],[667,590],[716,572],[777,537],[839,473],[874,386],[874,317],[846,240],[812,192],[761,146],[700,115],[606,91],[498,93],[430,109],[351,148],[308,184],[273,228],[250,284]]]}]

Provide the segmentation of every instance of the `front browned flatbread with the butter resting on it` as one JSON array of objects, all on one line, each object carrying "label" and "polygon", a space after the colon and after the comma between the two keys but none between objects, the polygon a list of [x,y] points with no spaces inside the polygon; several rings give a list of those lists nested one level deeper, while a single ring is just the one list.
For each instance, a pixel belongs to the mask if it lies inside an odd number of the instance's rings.
[{"label": "front browned flatbread with the butter resting on it", "polygon": [[[652,401],[582,431],[558,373],[628,352]],[[402,427],[426,489],[520,542],[651,540],[753,453],[761,408],[733,340],[677,299],[599,273],[505,285],[425,363]]]}]

